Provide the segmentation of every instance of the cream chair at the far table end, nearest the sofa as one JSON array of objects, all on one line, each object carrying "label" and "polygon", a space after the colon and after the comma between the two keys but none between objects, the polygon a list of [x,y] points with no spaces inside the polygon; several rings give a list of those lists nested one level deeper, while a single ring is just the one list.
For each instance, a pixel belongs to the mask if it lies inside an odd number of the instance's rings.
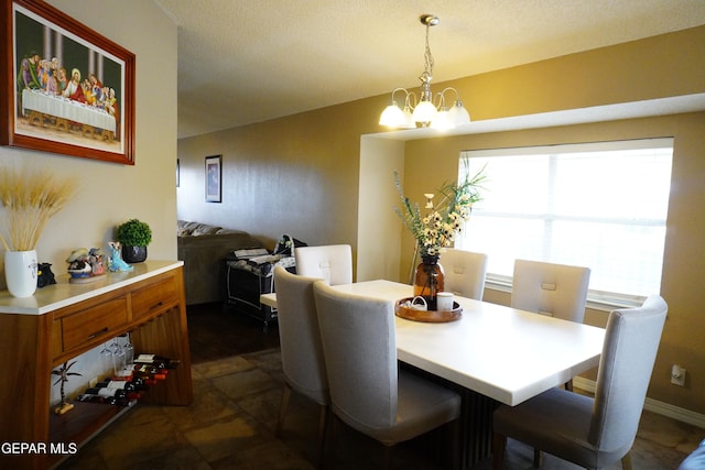
[{"label": "cream chair at the far table end, nearest the sofa", "polygon": [[349,244],[296,247],[296,274],[319,277],[330,285],[352,282],[352,249]]}]

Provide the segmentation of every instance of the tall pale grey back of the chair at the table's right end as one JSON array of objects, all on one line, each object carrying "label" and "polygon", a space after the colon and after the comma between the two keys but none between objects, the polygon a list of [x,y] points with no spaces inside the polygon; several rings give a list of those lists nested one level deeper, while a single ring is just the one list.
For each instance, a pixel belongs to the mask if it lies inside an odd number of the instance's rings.
[{"label": "tall pale grey back of the chair at the table's right end", "polygon": [[629,450],[651,380],[668,305],[658,295],[607,320],[588,440],[599,449]]}]

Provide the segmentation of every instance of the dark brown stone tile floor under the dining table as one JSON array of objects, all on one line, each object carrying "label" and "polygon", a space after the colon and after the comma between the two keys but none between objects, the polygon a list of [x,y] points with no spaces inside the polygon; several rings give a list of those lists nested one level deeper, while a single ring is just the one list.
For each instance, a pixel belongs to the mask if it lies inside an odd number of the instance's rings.
[{"label": "dark brown stone tile floor under the dining table", "polygon": [[[274,436],[283,375],[279,349],[193,365],[188,407],[137,405],[59,466],[68,469],[314,469],[318,408],[292,395],[281,438]],[[644,412],[632,449],[634,469],[676,469],[705,430]],[[335,469],[375,469],[382,448],[341,426]],[[532,449],[510,440],[508,470],[532,468]],[[413,445],[395,450],[393,468],[436,469]],[[491,459],[474,467],[491,468]],[[544,469],[576,469],[546,455]],[[615,468],[620,468],[616,466]]]}]

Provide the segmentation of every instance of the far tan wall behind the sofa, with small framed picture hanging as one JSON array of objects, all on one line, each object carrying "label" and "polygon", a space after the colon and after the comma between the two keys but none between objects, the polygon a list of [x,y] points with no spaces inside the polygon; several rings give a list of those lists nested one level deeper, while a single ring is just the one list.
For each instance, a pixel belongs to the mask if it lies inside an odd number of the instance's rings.
[{"label": "far tan wall behind the sofa, with small framed picture hanging", "polygon": [[[377,118],[356,101],[178,142],[178,218],[246,230],[273,248],[356,244],[360,135]],[[204,157],[223,155],[223,203],[205,203]]]}]

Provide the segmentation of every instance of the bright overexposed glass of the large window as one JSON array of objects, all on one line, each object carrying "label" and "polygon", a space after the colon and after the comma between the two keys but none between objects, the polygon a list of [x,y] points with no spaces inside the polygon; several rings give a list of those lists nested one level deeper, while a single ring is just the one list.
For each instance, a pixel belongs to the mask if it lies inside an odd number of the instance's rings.
[{"label": "bright overexposed glass of the large window", "polygon": [[672,139],[463,152],[460,178],[487,179],[456,247],[489,255],[489,282],[520,258],[590,267],[594,295],[659,293],[672,155]]}]

